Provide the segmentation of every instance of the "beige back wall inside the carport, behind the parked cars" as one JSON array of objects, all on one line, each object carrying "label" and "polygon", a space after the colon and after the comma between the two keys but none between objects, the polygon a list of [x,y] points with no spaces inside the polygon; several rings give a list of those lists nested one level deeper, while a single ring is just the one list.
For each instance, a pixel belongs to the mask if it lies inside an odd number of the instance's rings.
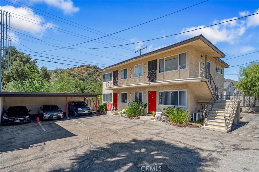
[{"label": "beige back wall inside the carport, behind the parked cars", "polygon": [[[83,97],[68,97],[68,102],[72,100],[84,101]],[[28,110],[32,110],[30,114],[37,114],[38,109],[44,104],[55,104],[66,112],[66,97],[6,97],[5,108],[10,106],[24,105]]]}]

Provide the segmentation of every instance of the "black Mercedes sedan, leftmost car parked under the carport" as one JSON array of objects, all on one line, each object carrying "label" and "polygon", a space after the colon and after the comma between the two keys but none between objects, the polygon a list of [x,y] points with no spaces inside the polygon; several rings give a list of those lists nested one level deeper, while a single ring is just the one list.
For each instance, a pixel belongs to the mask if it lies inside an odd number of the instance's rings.
[{"label": "black Mercedes sedan, leftmost car parked under the carport", "polygon": [[30,112],[26,106],[10,106],[1,119],[2,124],[31,122]]}]

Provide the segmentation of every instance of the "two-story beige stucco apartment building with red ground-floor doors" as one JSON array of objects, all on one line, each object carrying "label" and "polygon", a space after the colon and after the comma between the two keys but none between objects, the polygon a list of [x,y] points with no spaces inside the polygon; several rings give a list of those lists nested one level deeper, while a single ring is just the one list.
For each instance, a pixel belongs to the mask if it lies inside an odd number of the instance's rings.
[{"label": "two-story beige stucco apartment building with red ground-floor doors", "polygon": [[[147,112],[180,106],[204,109],[223,87],[225,54],[203,35],[104,68],[103,102],[121,111],[129,102],[148,103]],[[223,90],[222,90],[223,92]]]}]

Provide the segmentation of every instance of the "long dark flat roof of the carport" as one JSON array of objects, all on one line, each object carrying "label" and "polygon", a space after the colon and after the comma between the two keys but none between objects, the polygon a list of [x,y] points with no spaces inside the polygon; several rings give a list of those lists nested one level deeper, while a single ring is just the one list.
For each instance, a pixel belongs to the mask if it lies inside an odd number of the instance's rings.
[{"label": "long dark flat roof of the carport", "polygon": [[0,92],[0,97],[97,97],[95,93]]}]

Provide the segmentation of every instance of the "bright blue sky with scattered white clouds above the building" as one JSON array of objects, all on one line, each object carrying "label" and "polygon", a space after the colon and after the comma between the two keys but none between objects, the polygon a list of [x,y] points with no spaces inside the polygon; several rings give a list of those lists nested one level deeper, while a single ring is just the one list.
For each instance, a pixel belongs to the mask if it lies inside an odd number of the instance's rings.
[{"label": "bright blue sky with scattered white clouds above the building", "polygon": [[[20,4],[24,3],[26,5]],[[11,12],[13,39],[30,48],[35,52],[48,51],[57,47],[50,46],[70,46],[85,42],[88,39],[98,38],[106,34],[111,34],[128,27],[161,17],[163,15],[181,10],[185,7],[197,4],[203,1],[18,1],[13,0],[0,1],[1,9]],[[21,7],[19,7],[21,6]],[[29,10],[29,11],[25,8]],[[32,7],[36,8],[33,9]],[[50,14],[64,18],[69,21],[81,24],[71,23],[63,19],[54,17]],[[38,13],[36,13],[38,12]],[[141,26],[120,32],[109,37],[101,38],[97,42],[89,42],[80,46],[70,48],[95,48],[105,47],[108,45],[121,45],[131,42],[138,42],[152,38],[167,36],[180,33],[186,30],[192,30],[202,26],[211,25],[228,19],[235,19],[247,14],[259,12],[259,1],[207,1],[189,9],[171,14],[167,17],[143,24]],[[41,14],[39,14],[41,13]],[[44,16],[44,15],[46,16]],[[20,15],[20,16],[17,16]],[[23,16],[23,17],[21,17]],[[52,18],[49,18],[49,17]],[[26,18],[28,19],[26,19]],[[18,19],[21,18],[21,19]],[[77,28],[69,24],[57,21],[55,19],[81,27]],[[24,20],[22,20],[24,19]],[[31,20],[32,19],[32,20]],[[34,22],[28,22],[28,21]],[[33,21],[34,20],[34,21]],[[41,22],[41,23],[39,23]],[[35,24],[38,23],[38,24]],[[42,24],[45,23],[45,24]],[[40,24],[40,25],[39,25]],[[46,27],[44,27],[44,26]],[[49,28],[47,28],[49,27]],[[86,28],[88,27],[88,28]],[[19,30],[18,30],[19,29]],[[54,30],[56,29],[56,30]],[[63,29],[63,30],[62,30]],[[94,30],[92,30],[94,29]],[[22,30],[22,31],[21,31]],[[64,31],[66,30],[66,31]],[[89,30],[89,31],[87,31]],[[96,31],[95,31],[96,30]],[[62,32],[61,32],[62,31]],[[90,32],[92,31],[92,32]],[[100,31],[100,32],[98,32]],[[28,33],[30,32],[30,33]],[[66,34],[68,32],[73,35]],[[71,33],[73,32],[73,33]],[[96,33],[93,33],[96,32]],[[101,33],[103,32],[103,33]],[[23,35],[25,34],[25,35]],[[170,44],[177,43],[181,40],[203,34],[215,46],[226,54],[226,60],[230,66],[248,63],[259,60],[259,15],[235,20],[227,24],[221,24],[214,27],[200,29],[188,34],[171,36],[163,39],[153,40],[140,44],[127,45],[124,47],[103,48],[96,50],[74,50],[61,49],[49,52],[43,52],[44,56],[56,58],[57,62],[81,65],[83,63],[95,64],[100,68],[106,67],[122,60],[137,56],[135,53],[141,46],[148,46],[143,53],[152,49],[158,49]],[[74,36],[76,35],[76,36]],[[34,37],[34,38],[32,38]],[[35,39],[36,38],[36,39]],[[51,38],[51,39],[50,39]],[[114,39],[112,39],[114,38]],[[26,39],[26,40],[25,40]],[[40,39],[40,40],[39,40]],[[55,39],[55,40],[53,40]],[[117,40],[116,40],[117,39]],[[123,40],[125,39],[125,40]],[[126,41],[127,40],[127,41]],[[33,42],[32,42],[33,41]],[[24,50],[25,53],[32,53],[31,50],[12,41],[16,48]],[[108,45],[107,45],[108,44]],[[253,53],[256,52],[256,53]],[[252,53],[249,55],[244,55]],[[46,55],[48,54],[48,55]],[[36,54],[39,55],[39,54]],[[55,55],[55,56],[51,56]],[[237,57],[231,60],[228,58]],[[61,57],[81,60],[71,60],[74,62],[64,62]],[[47,60],[44,57],[33,56],[39,60]],[[224,59],[222,59],[224,60]],[[82,62],[87,61],[87,62]],[[39,66],[46,66],[49,70],[55,68],[68,68],[69,65],[56,64],[51,62],[38,61]],[[91,63],[90,63],[91,62]],[[97,64],[100,63],[100,64]],[[71,65],[70,65],[71,66]],[[71,66],[73,67],[73,66]],[[224,77],[227,79],[238,80],[238,67],[226,68]]]}]

